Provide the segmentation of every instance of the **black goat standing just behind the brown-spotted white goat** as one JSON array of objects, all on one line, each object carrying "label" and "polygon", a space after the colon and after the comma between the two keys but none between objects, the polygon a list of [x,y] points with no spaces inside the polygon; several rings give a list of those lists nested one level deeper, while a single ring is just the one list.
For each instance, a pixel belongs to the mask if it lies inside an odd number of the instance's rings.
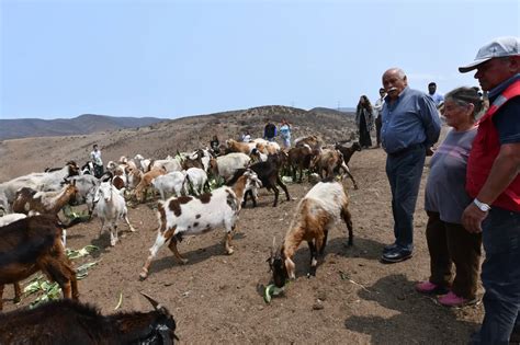
[{"label": "black goat standing just behind the brown-spotted white goat", "polygon": [[[276,184],[282,187],[283,192],[285,192],[287,202],[291,200],[291,197],[289,196],[287,186],[282,182],[282,179],[280,179],[279,174],[281,166],[284,164],[284,161],[285,157],[283,156],[283,153],[269,154],[268,160],[265,162],[258,162],[248,168],[257,173],[258,179],[262,182],[263,187],[274,192],[273,207],[278,205],[278,196],[280,194]],[[229,180],[226,184],[234,185],[238,177],[240,177],[245,171],[246,169],[238,169],[233,175],[231,180]],[[244,195],[242,207],[246,206],[248,195],[252,199],[252,206],[257,207],[257,200],[253,196],[252,191],[247,191]]]}]

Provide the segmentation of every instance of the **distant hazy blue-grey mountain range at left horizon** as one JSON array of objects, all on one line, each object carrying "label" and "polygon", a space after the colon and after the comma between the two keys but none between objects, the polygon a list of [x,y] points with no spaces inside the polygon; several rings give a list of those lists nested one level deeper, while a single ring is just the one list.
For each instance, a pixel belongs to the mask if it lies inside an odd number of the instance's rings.
[{"label": "distant hazy blue-grey mountain range at left horizon", "polygon": [[149,126],[165,120],[167,119],[157,117],[115,117],[93,114],[84,114],[75,118],[57,119],[0,119],[0,140],[29,137],[89,135],[98,131]]}]

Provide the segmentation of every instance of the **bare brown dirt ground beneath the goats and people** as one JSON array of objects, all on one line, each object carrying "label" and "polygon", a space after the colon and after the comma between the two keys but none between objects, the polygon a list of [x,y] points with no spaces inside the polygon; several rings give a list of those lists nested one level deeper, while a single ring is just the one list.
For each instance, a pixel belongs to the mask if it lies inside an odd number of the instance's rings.
[{"label": "bare brown dirt ground beneath the goats and people", "polygon": [[[20,171],[13,152],[9,148],[2,151],[2,162],[10,159],[9,172]],[[297,200],[312,187],[308,183],[290,184],[292,200],[281,194],[275,208],[271,206],[273,196],[262,189],[258,207],[249,205],[240,214],[233,255],[224,254],[222,229],[185,238],[179,250],[189,264],[179,265],[163,246],[145,281],[139,281],[138,275],[156,238],[156,203],[129,208],[131,222],[138,231],[131,233],[121,223],[123,238],[115,248],[109,245],[108,232],[100,237],[98,219],[69,229],[69,248],[101,248],[75,261],[77,266],[98,262],[79,281],[80,299],[112,313],[122,292],[121,310],[146,311],[151,307],[139,295],[144,291],[174,315],[181,344],[465,344],[482,321],[482,304],[448,309],[414,290],[415,283],[429,275],[422,209],[428,168],[416,209],[414,257],[393,265],[378,261],[383,245],[393,242],[384,163],[381,149],[353,156],[350,166],[360,188],[354,191],[350,181],[346,185],[354,245],[344,245],[346,226],[338,225],[329,233],[325,261],[314,278],[306,277],[309,254],[302,245],[295,258],[297,279],[270,304],[262,298],[262,287],[270,280],[265,260],[273,237],[278,243],[283,239]],[[9,172],[3,170],[3,177]],[[12,288],[7,287],[5,311],[26,307],[35,298],[26,297],[14,306],[12,297]]]}]

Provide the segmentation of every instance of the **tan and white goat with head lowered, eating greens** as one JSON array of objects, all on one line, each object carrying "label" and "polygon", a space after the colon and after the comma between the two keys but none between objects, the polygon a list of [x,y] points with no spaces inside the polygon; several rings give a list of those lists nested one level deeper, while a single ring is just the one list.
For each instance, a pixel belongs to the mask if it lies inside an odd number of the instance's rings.
[{"label": "tan and white goat with head lowered, eating greens", "polygon": [[348,209],[349,198],[343,186],[331,179],[316,184],[299,202],[279,253],[271,251],[269,265],[273,272],[273,283],[285,285],[287,278],[295,279],[296,265],[293,256],[302,241],[307,241],[310,250],[310,275],[316,275],[318,254],[323,257],[329,229],[342,219],[349,230],[349,245],[352,245],[352,220]]}]

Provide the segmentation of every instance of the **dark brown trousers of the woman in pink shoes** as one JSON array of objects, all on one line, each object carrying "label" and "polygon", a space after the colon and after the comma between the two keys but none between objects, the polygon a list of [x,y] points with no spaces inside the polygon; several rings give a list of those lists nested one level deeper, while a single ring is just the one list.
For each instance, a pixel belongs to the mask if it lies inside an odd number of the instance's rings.
[{"label": "dark brown trousers of the woman in pink shoes", "polygon": [[[482,234],[467,232],[462,225],[442,221],[438,212],[427,214],[430,281],[442,287],[451,286],[456,296],[474,299],[481,266]],[[453,281],[452,264],[455,264],[456,272]]]}]

